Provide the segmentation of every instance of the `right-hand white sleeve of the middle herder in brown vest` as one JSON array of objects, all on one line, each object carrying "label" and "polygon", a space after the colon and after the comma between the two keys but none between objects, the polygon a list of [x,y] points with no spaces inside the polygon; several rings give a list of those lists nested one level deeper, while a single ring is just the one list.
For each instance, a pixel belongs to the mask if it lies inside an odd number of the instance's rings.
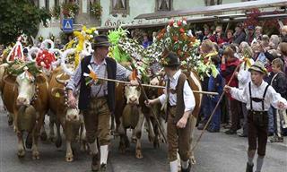
[{"label": "right-hand white sleeve of the middle herder in brown vest", "polygon": [[193,111],[196,107],[196,99],[194,96],[193,91],[188,85],[188,82],[185,82],[184,89],[183,89],[183,99],[185,101],[185,112],[187,111]]}]

